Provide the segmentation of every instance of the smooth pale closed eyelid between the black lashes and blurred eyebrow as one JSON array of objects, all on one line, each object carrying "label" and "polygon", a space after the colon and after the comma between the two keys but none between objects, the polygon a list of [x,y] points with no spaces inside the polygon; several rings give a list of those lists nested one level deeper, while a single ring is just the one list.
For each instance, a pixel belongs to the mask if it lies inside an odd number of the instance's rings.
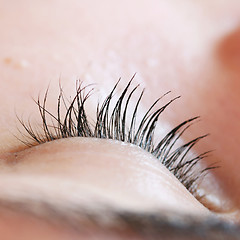
[{"label": "smooth pale closed eyelid between the black lashes and blurred eyebrow", "polygon": [[[70,198],[71,194],[81,196],[81,186],[85,186],[132,208],[210,214],[157,159],[134,145],[70,138],[27,149],[17,159],[9,165],[8,174],[34,176],[33,182],[44,176],[59,179],[61,187],[52,186],[59,189],[54,192],[65,191]],[[65,189],[65,180],[72,181],[74,191]]]}]

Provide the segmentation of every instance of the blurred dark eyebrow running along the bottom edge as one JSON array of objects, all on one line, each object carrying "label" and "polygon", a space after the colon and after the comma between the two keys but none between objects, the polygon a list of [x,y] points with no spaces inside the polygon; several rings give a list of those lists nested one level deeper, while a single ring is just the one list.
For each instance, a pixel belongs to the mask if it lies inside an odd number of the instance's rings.
[{"label": "blurred dark eyebrow running along the bottom edge", "polygon": [[89,226],[111,231],[131,231],[143,239],[240,239],[240,226],[214,216],[205,218],[161,211],[129,211],[108,204],[96,207],[65,204],[61,207],[36,199],[0,199],[0,210],[8,209],[43,219],[49,223],[64,224],[81,233]]}]

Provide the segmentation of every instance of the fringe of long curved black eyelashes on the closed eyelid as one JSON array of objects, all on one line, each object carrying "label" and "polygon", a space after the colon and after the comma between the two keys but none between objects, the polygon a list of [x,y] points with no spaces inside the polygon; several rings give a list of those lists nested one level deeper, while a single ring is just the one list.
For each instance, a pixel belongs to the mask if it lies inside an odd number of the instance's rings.
[{"label": "fringe of long curved black eyelashes on the closed eyelid", "polygon": [[[197,163],[205,158],[209,152],[204,152],[196,157],[189,157],[189,152],[199,140],[207,135],[197,137],[180,147],[177,147],[177,144],[180,137],[199,117],[182,122],[162,140],[155,143],[154,135],[159,116],[179,97],[175,97],[161,108],[153,110],[159,100],[168,93],[158,98],[147,110],[139,124],[137,124],[138,109],[144,90],[138,96],[133,112],[129,113],[128,109],[133,100],[133,95],[139,88],[139,85],[137,85],[130,90],[132,78],[120,94],[112,110],[110,110],[119,81],[103,103],[97,104],[96,120],[93,122],[89,121],[85,107],[86,101],[93,92],[93,88],[85,93],[89,86],[82,87],[82,83],[78,82],[75,97],[71,101],[67,101],[60,86],[56,115],[46,109],[47,89],[43,102],[41,103],[40,97],[35,101],[42,119],[40,130],[33,128],[30,121],[24,122],[18,118],[26,131],[25,134],[20,131],[23,137],[20,140],[29,147],[68,137],[106,138],[131,143],[155,156],[194,196],[198,197],[196,190],[199,183],[208,170],[214,169],[215,166],[199,170],[199,167],[196,167]],[[62,105],[65,108],[64,117],[61,115]],[[128,115],[131,115],[130,120],[127,118]]]}]

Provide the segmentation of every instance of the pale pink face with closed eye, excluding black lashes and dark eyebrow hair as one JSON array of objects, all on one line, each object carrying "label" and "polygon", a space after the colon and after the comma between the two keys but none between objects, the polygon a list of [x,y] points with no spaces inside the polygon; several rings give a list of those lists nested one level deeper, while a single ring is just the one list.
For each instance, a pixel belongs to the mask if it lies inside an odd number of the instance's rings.
[{"label": "pale pink face with closed eye, excluding black lashes and dark eyebrow hair", "polygon": [[[139,222],[146,213],[164,212],[173,218],[217,217],[239,223],[239,1],[0,4],[0,234],[4,239],[144,239],[139,229],[121,228],[119,221],[104,225],[100,217],[93,224],[86,217],[89,212],[102,216],[109,209],[141,213]],[[205,195],[201,200],[155,156],[135,145],[85,137],[33,147],[19,141],[24,129],[16,115],[31,125],[42,122],[32,97],[43,101],[49,89],[47,109],[57,116],[59,83],[66,99],[73,99],[80,79],[83,86],[94,84],[85,109],[95,119],[96,102],[104,101],[119,77],[116,95],[120,93],[135,73],[132,88],[138,83],[146,88],[140,115],[169,90],[160,107],[182,96],[158,119],[158,138],[199,115],[201,122],[180,141],[210,133],[190,150],[193,155],[214,150],[200,165],[220,166],[198,188]],[[52,208],[42,202],[55,206],[54,212],[64,213],[63,217],[50,214]],[[23,206],[31,207],[25,211]],[[74,214],[84,229],[72,227],[69,219]],[[111,214],[106,218],[111,219]],[[21,229],[22,236],[12,229]],[[183,239],[188,239],[190,233],[184,234]],[[171,239],[170,233],[164,236]]]}]

